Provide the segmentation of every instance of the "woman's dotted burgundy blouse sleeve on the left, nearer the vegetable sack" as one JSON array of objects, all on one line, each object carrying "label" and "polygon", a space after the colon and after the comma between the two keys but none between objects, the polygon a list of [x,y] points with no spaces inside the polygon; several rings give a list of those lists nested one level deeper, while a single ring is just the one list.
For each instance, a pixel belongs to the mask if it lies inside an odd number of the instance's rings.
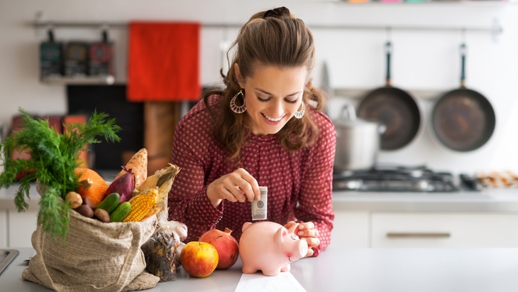
[{"label": "woman's dotted burgundy blouse sleeve on the left, nearer the vegetable sack", "polygon": [[[199,128],[198,128],[199,129]],[[172,163],[180,167],[169,193],[169,220],[187,225],[185,242],[197,240],[206,230],[214,229],[223,215],[223,204],[214,207],[206,195],[202,153],[209,141],[197,139],[204,135],[192,129],[189,122],[180,121],[172,145]]]}]

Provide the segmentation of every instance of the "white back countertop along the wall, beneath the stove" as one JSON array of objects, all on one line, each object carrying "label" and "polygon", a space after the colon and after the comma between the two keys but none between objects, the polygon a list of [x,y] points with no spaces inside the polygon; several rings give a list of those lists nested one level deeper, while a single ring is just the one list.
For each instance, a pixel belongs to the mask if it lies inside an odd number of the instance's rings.
[{"label": "white back countertop along the wall, beneath the stove", "polygon": [[[16,210],[13,199],[17,189],[18,185],[0,189],[0,210]],[[32,185],[29,210],[38,210],[39,198]],[[518,188],[455,193],[335,191],[333,207],[336,211],[518,212]]]}]

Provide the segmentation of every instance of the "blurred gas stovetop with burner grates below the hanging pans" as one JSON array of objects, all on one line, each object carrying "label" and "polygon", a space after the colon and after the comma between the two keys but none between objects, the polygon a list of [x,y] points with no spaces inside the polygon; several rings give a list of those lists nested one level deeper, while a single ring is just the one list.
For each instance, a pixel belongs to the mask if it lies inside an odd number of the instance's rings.
[{"label": "blurred gas stovetop with burner grates below the hanging pans", "polygon": [[378,165],[364,171],[333,174],[334,190],[453,193],[481,189],[469,175],[432,171],[426,166]]}]

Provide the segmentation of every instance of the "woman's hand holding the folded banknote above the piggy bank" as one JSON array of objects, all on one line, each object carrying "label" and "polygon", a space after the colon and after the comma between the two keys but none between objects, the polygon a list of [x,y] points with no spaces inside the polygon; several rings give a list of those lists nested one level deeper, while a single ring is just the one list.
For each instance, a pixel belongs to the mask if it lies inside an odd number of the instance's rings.
[{"label": "woman's hand holding the folded banknote above the piggy bank", "polygon": [[214,207],[218,207],[222,200],[231,202],[245,202],[260,199],[260,190],[257,180],[244,168],[221,176],[209,184],[206,190],[207,197]]}]

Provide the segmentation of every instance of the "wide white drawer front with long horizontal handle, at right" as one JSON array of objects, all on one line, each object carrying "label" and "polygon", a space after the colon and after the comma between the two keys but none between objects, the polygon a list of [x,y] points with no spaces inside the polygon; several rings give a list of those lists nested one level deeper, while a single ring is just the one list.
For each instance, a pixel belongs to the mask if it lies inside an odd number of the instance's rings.
[{"label": "wide white drawer front with long horizontal handle, at right", "polygon": [[518,215],[373,213],[372,247],[518,247]]}]

